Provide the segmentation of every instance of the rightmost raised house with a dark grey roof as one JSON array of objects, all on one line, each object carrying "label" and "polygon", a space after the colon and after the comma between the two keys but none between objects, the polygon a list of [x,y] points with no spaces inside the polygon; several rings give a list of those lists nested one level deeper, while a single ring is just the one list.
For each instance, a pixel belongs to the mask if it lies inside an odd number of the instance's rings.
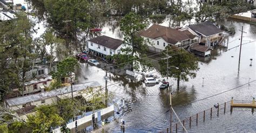
[{"label": "rightmost raised house with a dark grey roof", "polygon": [[216,45],[224,36],[224,31],[213,25],[210,21],[187,26],[179,29],[179,31],[187,31],[198,36],[200,45],[205,45],[206,47]]}]

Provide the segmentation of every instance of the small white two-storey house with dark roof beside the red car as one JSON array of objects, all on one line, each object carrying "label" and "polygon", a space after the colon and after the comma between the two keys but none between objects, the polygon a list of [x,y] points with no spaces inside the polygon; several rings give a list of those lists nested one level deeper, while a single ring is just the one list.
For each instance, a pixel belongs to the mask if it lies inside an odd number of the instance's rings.
[{"label": "small white two-storey house with dark roof beside the red car", "polygon": [[122,40],[113,39],[106,35],[97,36],[97,38],[88,40],[89,51],[100,57],[121,54],[121,48],[125,47],[126,45]]}]

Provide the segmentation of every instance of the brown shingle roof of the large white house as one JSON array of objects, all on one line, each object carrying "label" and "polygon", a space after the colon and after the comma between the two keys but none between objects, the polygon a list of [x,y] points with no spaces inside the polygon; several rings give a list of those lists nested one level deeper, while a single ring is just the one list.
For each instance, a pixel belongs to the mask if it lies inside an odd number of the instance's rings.
[{"label": "brown shingle roof of the large white house", "polygon": [[163,38],[166,42],[173,45],[179,41],[193,39],[195,37],[193,34],[187,35],[185,32],[178,31],[177,29],[156,24],[153,24],[145,31],[140,32],[140,35],[151,39]]}]

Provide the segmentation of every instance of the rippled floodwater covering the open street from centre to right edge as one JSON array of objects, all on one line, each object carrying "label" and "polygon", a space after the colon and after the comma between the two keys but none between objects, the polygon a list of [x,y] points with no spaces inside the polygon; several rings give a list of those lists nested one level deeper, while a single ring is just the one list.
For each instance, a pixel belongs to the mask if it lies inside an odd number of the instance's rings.
[{"label": "rippled floodwater covering the open street from centre to right edge", "polygon": [[[186,119],[198,112],[203,112],[206,109],[213,107],[215,103],[224,104],[230,101],[231,97],[234,100],[252,100],[256,97],[256,42],[247,43],[256,40],[256,24],[248,24],[242,21],[227,20],[222,22],[225,26],[234,26],[236,34],[230,36],[228,48],[230,50],[218,49],[211,57],[203,59],[199,62],[200,70],[197,72],[197,77],[190,79],[189,82],[181,82],[180,90],[176,89],[176,80],[169,79],[173,84],[172,95],[173,108],[181,120]],[[244,26],[244,38],[241,50],[240,74],[238,76],[238,58],[241,32],[238,30]],[[106,31],[106,27],[103,28]],[[106,35],[111,32],[105,32]],[[117,35],[109,35],[116,37]],[[232,57],[233,56],[233,57]],[[252,66],[250,67],[250,58],[253,58]],[[102,64],[102,67],[104,64]],[[112,68],[114,69],[114,68]],[[156,71],[154,75],[160,76]],[[116,71],[118,75],[122,75],[124,71]],[[149,72],[150,73],[150,72]],[[105,71],[95,66],[81,63],[80,69],[76,72],[78,83],[97,80],[102,86],[105,86],[104,80]],[[126,132],[147,132],[147,131],[165,131],[170,127],[170,112],[169,110],[169,94],[170,90],[159,90],[159,85],[145,86],[144,83],[132,83],[130,79],[123,76],[114,76],[109,73],[109,83],[107,88],[114,94],[114,101],[125,99],[125,108],[122,118],[125,120]],[[164,78],[164,77],[163,77]],[[163,79],[160,78],[160,79]],[[204,86],[203,85],[204,78]],[[250,85],[248,81],[250,78]],[[112,84],[112,85],[111,85]],[[246,85],[244,85],[246,84]],[[239,87],[240,86],[240,87]],[[237,88],[236,88],[237,87]],[[212,97],[211,97],[212,96]],[[230,110],[226,115],[213,117],[212,120],[207,120],[204,123],[199,123],[191,129],[190,132],[204,131],[255,131],[256,117],[250,109],[234,109],[232,115]],[[173,115],[173,123],[177,119]],[[173,124],[174,127],[174,124]],[[116,122],[109,123],[104,126],[109,132],[119,132],[120,127]],[[207,130],[205,130],[207,129]],[[183,131],[183,130],[180,130]]]}]

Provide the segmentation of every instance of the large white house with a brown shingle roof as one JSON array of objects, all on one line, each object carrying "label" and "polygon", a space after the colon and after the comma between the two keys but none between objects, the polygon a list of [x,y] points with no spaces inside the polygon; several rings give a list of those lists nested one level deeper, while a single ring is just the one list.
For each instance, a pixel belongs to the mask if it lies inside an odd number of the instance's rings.
[{"label": "large white house with a brown shingle roof", "polygon": [[167,45],[188,47],[192,43],[198,43],[199,38],[190,32],[178,31],[170,27],[153,24],[145,31],[140,32],[145,40],[149,39],[149,50],[159,53],[165,50]]}]

